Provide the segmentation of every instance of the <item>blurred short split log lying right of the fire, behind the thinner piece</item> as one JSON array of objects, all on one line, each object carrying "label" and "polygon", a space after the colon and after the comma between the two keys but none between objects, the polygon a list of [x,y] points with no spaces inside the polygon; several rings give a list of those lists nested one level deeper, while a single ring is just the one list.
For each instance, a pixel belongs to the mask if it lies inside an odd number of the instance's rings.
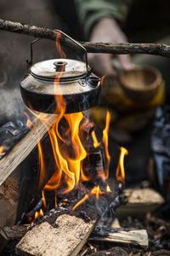
[{"label": "blurred short split log lying right of the fire, behind the thinner piece", "polygon": [[127,204],[116,209],[120,218],[143,216],[147,212],[154,212],[164,203],[163,197],[153,189],[125,189]]}]

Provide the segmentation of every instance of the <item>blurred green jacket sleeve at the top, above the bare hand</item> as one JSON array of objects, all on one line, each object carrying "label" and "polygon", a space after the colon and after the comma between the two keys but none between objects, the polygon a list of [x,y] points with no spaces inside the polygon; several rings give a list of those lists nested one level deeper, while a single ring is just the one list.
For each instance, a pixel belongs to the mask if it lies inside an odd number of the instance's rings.
[{"label": "blurred green jacket sleeve at the top, above the bare hand", "polygon": [[124,21],[133,0],[75,0],[85,38],[89,38],[94,24],[103,17]]}]

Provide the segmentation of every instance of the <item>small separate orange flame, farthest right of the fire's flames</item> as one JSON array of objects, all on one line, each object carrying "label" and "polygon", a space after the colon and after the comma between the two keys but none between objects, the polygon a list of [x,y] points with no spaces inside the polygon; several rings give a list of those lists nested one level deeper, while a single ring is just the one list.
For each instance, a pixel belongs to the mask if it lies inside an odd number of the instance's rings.
[{"label": "small separate orange flame, farthest right of the fire's flames", "polygon": [[128,154],[128,151],[126,148],[120,148],[121,153],[119,157],[119,163],[116,168],[116,179],[122,183],[125,183],[125,170],[124,170],[124,157]]}]

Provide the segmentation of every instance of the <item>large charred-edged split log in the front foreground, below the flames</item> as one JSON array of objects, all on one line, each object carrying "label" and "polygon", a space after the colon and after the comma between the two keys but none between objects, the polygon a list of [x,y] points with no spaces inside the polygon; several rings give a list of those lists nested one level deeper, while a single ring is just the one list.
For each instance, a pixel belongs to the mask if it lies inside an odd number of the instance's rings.
[{"label": "large charred-edged split log in the front foreground, below the flames", "polygon": [[18,255],[73,256],[80,252],[94,229],[95,221],[85,223],[82,218],[61,215],[52,226],[47,222],[26,233],[16,246]]}]

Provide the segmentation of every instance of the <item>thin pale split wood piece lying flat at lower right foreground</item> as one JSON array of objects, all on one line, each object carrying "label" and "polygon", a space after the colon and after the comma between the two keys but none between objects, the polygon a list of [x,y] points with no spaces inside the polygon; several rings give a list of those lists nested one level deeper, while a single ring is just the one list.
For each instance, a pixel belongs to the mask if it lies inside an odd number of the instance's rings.
[{"label": "thin pale split wood piece lying flat at lower right foreground", "polygon": [[113,243],[126,243],[139,245],[146,249],[149,245],[148,234],[146,230],[122,230],[116,229],[115,232],[108,232],[106,236],[92,236],[88,241],[110,241]]}]

